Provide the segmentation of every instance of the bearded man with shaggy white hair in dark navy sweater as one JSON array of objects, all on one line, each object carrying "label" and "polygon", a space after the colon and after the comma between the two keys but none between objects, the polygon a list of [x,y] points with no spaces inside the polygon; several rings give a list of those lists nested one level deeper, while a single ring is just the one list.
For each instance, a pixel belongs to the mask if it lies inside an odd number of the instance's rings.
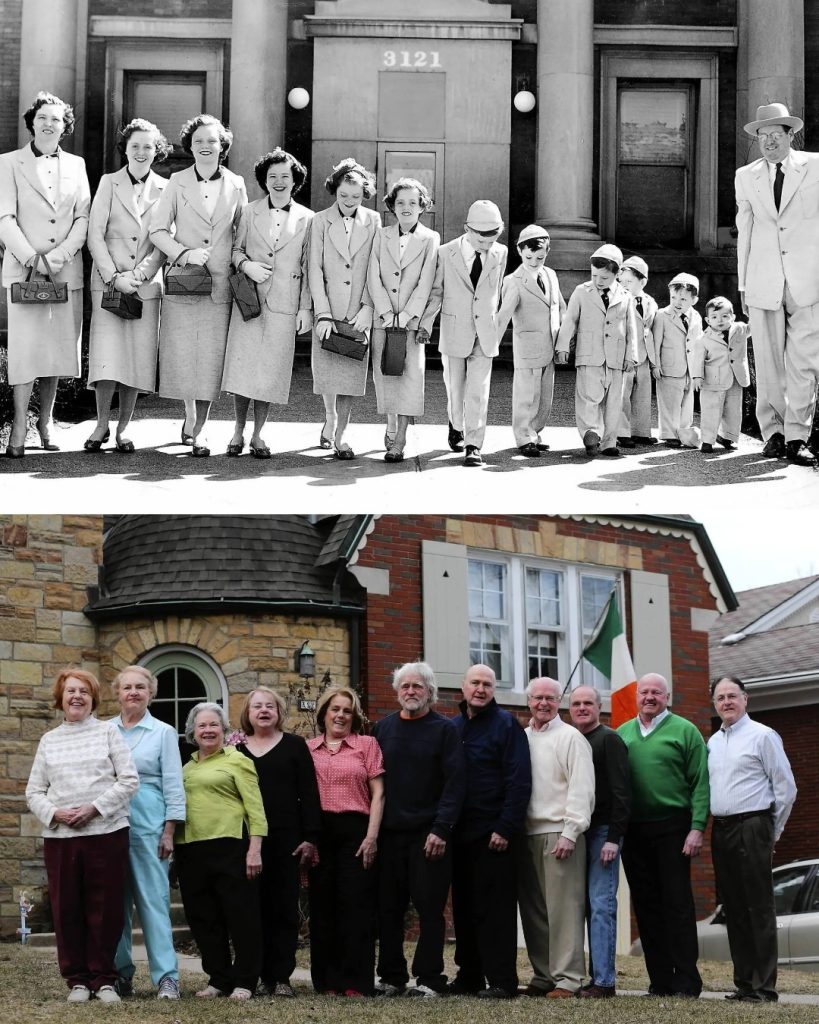
[{"label": "bearded man with shaggy white hair in dark navy sweater", "polygon": [[[384,752],[385,802],[379,836],[379,982],[377,995],[434,997],[446,991],[444,907],[451,879],[451,835],[466,788],[458,730],[432,705],[437,686],[424,662],[395,670],[400,711],[377,722]],[[403,954],[403,925],[412,899],[419,938],[413,959]]]}]

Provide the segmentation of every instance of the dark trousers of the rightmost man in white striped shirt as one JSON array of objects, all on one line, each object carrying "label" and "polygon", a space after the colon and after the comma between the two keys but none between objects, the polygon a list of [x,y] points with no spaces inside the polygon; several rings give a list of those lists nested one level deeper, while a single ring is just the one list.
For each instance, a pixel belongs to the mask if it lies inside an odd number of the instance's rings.
[{"label": "dark trousers of the rightmost man in white striped shirt", "polygon": [[734,984],[740,992],[776,996],[776,904],[771,860],[774,820],[770,812],[715,818],[712,858],[717,893],[725,909]]}]

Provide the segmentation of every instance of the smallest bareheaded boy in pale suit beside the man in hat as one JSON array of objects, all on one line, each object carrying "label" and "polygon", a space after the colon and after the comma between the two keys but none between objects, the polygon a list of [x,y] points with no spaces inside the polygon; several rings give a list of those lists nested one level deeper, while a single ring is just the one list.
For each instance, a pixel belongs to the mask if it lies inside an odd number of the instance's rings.
[{"label": "smallest bareheaded boy in pale suit beside the man in hat", "polygon": [[719,441],[736,447],[742,424],[742,389],[750,383],[747,324],[737,324],[732,303],[719,295],[705,305],[707,327],[692,360],[694,390],[699,391],[701,451]]}]

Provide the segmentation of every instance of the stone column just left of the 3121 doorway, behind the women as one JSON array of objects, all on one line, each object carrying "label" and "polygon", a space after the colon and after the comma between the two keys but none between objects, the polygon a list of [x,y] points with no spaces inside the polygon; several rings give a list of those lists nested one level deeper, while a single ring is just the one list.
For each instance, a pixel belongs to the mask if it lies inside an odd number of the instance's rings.
[{"label": "stone column just left of the 3121 doorway, behind the women", "polygon": [[230,169],[258,199],[253,165],[285,144],[288,82],[287,0],[233,0],[230,36]]}]

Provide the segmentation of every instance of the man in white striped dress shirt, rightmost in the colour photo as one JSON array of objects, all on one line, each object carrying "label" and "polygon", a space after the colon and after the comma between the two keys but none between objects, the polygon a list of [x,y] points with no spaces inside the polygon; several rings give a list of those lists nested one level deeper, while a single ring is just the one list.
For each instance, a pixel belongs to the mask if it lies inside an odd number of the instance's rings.
[{"label": "man in white striped dress shirt, rightmost in the colour photo", "polygon": [[771,859],[796,799],[782,740],[748,718],[748,696],[736,676],[712,687],[721,728],[708,740],[712,857],[725,909],[740,1002],[775,1002],[776,906]]}]

